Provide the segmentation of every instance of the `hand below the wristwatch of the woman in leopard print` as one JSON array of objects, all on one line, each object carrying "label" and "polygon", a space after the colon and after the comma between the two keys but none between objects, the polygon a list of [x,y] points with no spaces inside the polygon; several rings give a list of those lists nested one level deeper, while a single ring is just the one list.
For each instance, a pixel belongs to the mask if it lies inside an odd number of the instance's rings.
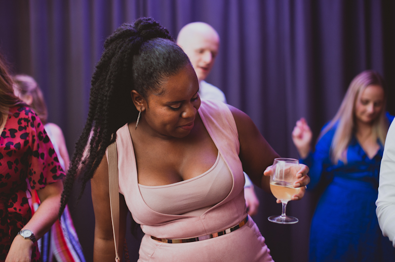
[{"label": "hand below the wristwatch of the woman in leopard print", "polygon": [[6,257],[6,262],[30,262],[32,248],[33,241],[17,235],[14,241],[12,241],[10,251],[8,251]]}]

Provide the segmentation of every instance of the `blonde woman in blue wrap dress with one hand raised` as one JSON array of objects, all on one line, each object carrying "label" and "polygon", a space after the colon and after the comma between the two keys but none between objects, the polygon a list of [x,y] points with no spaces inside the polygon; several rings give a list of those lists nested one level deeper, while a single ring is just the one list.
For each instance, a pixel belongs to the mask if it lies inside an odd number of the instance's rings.
[{"label": "blonde woman in blue wrap dress with one hand raised", "polygon": [[292,139],[300,163],[310,168],[308,190],[325,186],[311,222],[309,261],[395,259],[375,213],[383,145],[393,119],[385,113],[385,97],[377,72],[356,76],[314,151],[306,121],[296,123]]}]

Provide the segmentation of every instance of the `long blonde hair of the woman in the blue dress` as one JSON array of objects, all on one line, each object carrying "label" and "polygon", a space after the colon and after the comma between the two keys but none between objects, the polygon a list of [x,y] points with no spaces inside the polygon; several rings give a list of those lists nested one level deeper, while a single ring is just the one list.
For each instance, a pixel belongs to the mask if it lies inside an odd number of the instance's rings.
[{"label": "long blonde hair of the woman in the blue dress", "polygon": [[[347,148],[355,132],[355,103],[360,99],[362,92],[370,85],[381,86],[384,91],[384,81],[380,74],[373,70],[366,70],[352,79],[347,92],[341,102],[340,108],[335,117],[322,130],[320,138],[326,134],[332,127],[337,125],[335,134],[331,144],[331,160],[334,164],[338,164],[339,160],[347,164]],[[385,142],[389,123],[385,117],[385,95],[383,109],[380,115],[373,120],[373,135],[380,140],[382,144]]]}]

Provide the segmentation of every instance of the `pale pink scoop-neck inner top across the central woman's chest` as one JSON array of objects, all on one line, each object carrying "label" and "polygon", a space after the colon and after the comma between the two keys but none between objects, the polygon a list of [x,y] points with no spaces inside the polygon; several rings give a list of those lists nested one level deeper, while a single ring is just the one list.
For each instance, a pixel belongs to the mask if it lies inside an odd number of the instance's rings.
[{"label": "pale pink scoop-neck inner top across the central woman's chest", "polygon": [[155,212],[199,217],[228,196],[233,178],[221,154],[207,172],[164,186],[139,184],[145,203]]}]

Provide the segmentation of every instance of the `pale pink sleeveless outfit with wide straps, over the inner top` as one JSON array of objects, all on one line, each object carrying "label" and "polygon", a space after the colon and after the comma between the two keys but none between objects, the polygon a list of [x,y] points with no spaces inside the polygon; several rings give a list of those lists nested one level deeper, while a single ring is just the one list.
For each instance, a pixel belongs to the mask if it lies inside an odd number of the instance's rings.
[{"label": "pale pink sleeveless outfit with wide straps, over the inner top", "polygon": [[227,197],[199,217],[157,213],[144,202],[128,125],[117,131],[120,193],[145,233],[138,261],[272,261],[265,239],[251,218],[238,230],[198,242],[163,243],[150,238],[151,235],[168,239],[204,236],[233,227],[247,216],[239,136],[233,116],[226,104],[215,100],[202,100],[198,112],[233,178]]}]

